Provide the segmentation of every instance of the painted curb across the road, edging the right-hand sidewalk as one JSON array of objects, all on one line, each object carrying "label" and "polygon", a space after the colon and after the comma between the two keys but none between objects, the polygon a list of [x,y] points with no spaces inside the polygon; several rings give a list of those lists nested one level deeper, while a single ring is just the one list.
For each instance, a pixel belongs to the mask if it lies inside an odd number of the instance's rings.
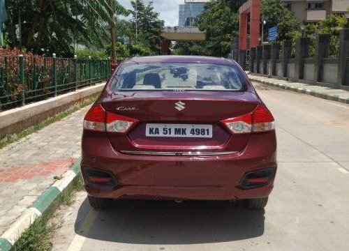
[{"label": "painted curb across the road, edging the right-hand sidewalk", "polygon": [[[275,83],[275,82],[268,82],[262,79],[258,79],[258,77],[253,76],[253,75],[248,75],[248,78],[251,79],[252,81],[261,83],[261,84],[267,84],[269,86],[274,86],[274,87],[278,87],[281,89],[285,89],[285,90],[289,90],[289,91],[297,91],[299,93],[304,93],[306,95],[310,95],[310,96],[314,96],[316,98],[322,98],[325,100],[332,100],[332,101],[336,101],[336,102],[342,102],[343,104],[349,104],[349,98],[343,98],[337,94],[327,94],[327,93],[322,93],[319,91],[314,91],[314,90],[309,90],[309,89],[304,89],[303,87],[295,87],[295,86],[286,86],[284,84],[280,84],[280,83]],[[279,80],[279,79],[277,79]]]}]

